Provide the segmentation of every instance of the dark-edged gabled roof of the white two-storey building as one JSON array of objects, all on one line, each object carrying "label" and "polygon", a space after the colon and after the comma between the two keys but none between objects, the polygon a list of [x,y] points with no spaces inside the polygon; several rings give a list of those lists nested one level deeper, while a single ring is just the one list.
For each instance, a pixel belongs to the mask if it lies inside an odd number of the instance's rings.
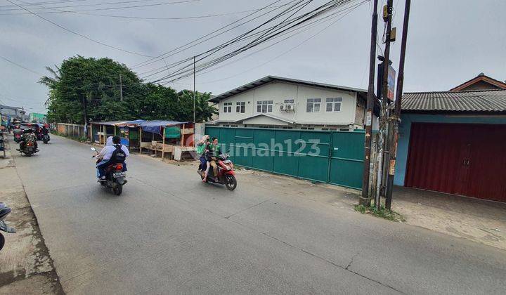
[{"label": "dark-edged gabled roof of the white two-storey building", "polygon": [[317,82],[312,82],[312,81],[304,81],[304,80],[291,79],[291,78],[285,78],[285,77],[267,76],[267,77],[258,79],[256,81],[252,81],[251,83],[239,86],[238,88],[232,89],[231,91],[226,91],[224,93],[221,93],[219,96],[216,96],[216,97],[210,99],[209,101],[214,102],[214,103],[218,103],[220,100],[223,100],[223,99],[228,98],[230,96],[235,96],[236,94],[242,93],[244,91],[248,91],[249,89],[254,89],[258,86],[268,84],[273,81],[283,81],[283,82],[287,82],[287,83],[303,84],[306,86],[315,86],[315,87],[326,88],[326,89],[354,91],[354,92],[358,92],[358,93],[367,95],[367,90],[365,90],[365,89],[357,89],[357,88],[352,88],[352,87],[325,84],[325,83],[317,83]]}]

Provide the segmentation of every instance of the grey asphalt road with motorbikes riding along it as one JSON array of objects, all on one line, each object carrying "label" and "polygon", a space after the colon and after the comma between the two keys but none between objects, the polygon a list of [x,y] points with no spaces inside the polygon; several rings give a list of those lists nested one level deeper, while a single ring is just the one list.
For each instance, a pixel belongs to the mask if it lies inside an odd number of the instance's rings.
[{"label": "grey asphalt road with motorbikes riding along it", "polygon": [[315,202],[290,179],[229,192],[134,155],[117,197],[89,146],[39,145],[15,164],[67,294],[505,294],[506,251]]}]

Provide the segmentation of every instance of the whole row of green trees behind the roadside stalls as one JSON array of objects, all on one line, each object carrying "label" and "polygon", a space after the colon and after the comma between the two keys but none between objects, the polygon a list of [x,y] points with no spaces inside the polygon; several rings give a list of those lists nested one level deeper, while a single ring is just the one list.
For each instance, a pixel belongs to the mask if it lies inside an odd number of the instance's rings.
[{"label": "whole row of green trees behind the roadside stalls", "polygon": [[[168,119],[193,121],[193,93],[181,95],[169,87],[144,84],[126,65],[110,58],[67,60],[39,83],[48,86],[48,122],[83,124],[89,121],[122,119]],[[122,75],[123,100],[120,98],[119,74]],[[217,110],[209,105],[210,93],[197,93],[197,122],[211,119]]]}]

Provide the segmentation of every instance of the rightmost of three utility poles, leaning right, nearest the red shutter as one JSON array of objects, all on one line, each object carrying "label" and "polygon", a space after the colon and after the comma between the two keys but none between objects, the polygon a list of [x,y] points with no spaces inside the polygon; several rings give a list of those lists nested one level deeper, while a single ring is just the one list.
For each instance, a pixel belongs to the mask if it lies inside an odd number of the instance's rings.
[{"label": "rightmost of three utility poles, leaning right, nearest the red shutter", "polygon": [[390,145],[390,162],[389,162],[389,175],[387,178],[387,192],[385,197],[385,207],[391,209],[391,196],[394,189],[394,175],[396,167],[396,153],[398,143],[398,124],[401,122],[401,102],[404,84],[404,60],[406,59],[406,41],[408,40],[408,23],[410,13],[411,0],[406,0],[406,6],[404,8],[404,23],[403,23],[403,36],[401,41],[401,60],[399,60],[399,69],[397,77],[397,90],[396,90],[396,101],[395,110],[393,116],[391,116],[392,122],[394,123],[394,132],[391,136]]}]

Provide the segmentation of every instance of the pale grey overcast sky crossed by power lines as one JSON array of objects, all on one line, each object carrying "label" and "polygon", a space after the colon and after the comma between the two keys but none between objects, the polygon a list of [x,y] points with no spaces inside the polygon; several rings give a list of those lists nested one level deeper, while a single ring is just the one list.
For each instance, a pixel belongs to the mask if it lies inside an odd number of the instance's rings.
[{"label": "pale grey overcast sky crossed by power lines", "polygon": [[[48,2],[50,0],[24,1]],[[51,4],[51,6],[103,4],[121,0],[64,1],[68,3]],[[147,0],[135,1],[131,4],[58,9],[84,10],[126,5],[164,4],[174,1],[176,0]],[[284,0],[282,3],[286,1]],[[313,6],[326,1],[315,0]],[[15,2],[22,3],[19,0]],[[150,18],[190,17],[247,11],[261,8],[272,2],[273,0],[200,0],[143,8],[90,11],[89,13]],[[380,1],[380,7],[383,2]],[[396,69],[401,47],[403,4],[404,0],[394,0],[396,10],[393,26],[398,27],[398,41],[391,46],[391,60],[394,61]],[[93,43],[70,32],[65,32],[35,15],[19,14],[26,13],[26,11],[12,10],[15,7],[11,7],[8,1],[0,0],[0,6],[0,10],[10,9],[9,11],[0,11],[0,13],[18,13],[0,16],[0,55],[34,72],[46,74],[45,66],[59,65],[63,59],[73,55],[95,58],[109,57],[129,67],[148,59]],[[236,63],[231,63],[208,74],[198,75],[197,90],[219,94],[266,75],[366,89],[371,6],[372,4],[366,2],[304,44],[301,42],[319,32],[330,22],[314,27]],[[30,6],[30,10],[44,11],[37,6]],[[506,1],[504,0],[413,0],[404,90],[445,91],[475,77],[480,72],[504,81],[506,79],[505,12]],[[41,15],[58,25],[111,46],[145,55],[158,55],[238,20],[246,14],[192,20],[132,20],[75,13]],[[209,40],[200,46],[167,58],[167,63],[201,53],[221,41],[231,39],[247,29],[251,29],[254,25],[258,25],[258,22],[238,27],[221,38]],[[380,18],[380,32],[383,29],[382,25],[383,22]],[[301,45],[294,48],[298,44]],[[292,48],[294,49],[289,51]],[[289,52],[285,53],[287,51]],[[285,54],[281,55],[282,53]],[[241,56],[243,55],[238,58]],[[271,61],[268,62],[269,60]],[[135,70],[141,73],[162,65],[164,63],[157,63]],[[0,103],[24,106],[28,112],[45,112],[43,103],[47,98],[48,91],[45,86],[37,84],[39,74],[34,74],[1,59],[0,66]],[[192,79],[181,80],[170,84],[170,86],[175,89],[193,89]]]}]

